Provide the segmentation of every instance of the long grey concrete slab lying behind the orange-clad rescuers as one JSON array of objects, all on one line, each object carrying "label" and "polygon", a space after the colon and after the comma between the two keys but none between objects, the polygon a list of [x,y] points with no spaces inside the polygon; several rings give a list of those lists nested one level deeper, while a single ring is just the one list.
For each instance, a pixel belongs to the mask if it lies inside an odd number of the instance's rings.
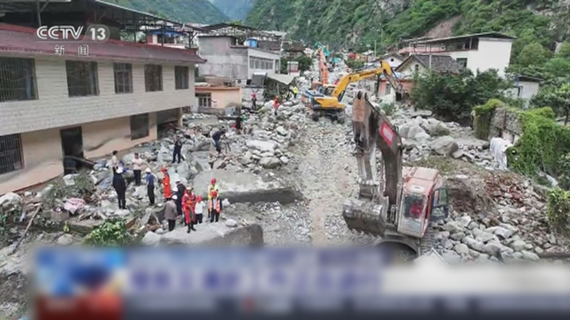
[{"label": "long grey concrete slab lying behind the orange-clad rescuers", "polygon": [[291,203],[301,195],[291,186],[277,180],[264,180],[253,173],[232,170],[202,171],[194,178],[194,192],[207,196],[211,178],[216,178],[223,199],[235,202]]}]

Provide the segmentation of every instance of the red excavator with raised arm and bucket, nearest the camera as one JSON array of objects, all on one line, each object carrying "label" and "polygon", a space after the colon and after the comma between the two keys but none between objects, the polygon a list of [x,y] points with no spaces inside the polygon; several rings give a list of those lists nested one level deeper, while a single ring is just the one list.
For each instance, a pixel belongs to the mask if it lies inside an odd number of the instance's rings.
[{"label": "red excavator with raised arm and bucket, nearest the camera", "polygon": [[[439,171],[402,166],[397,129],[363,92],[352,105],[352,127],[360,190],[343,205],[348,228],[380,236],[380,242],[405,244],[421,255],[430,249],[429,241],[422,243],[429,222],[449,214]],[[377,175],[376,147],[382,153],[384,177]]]}]

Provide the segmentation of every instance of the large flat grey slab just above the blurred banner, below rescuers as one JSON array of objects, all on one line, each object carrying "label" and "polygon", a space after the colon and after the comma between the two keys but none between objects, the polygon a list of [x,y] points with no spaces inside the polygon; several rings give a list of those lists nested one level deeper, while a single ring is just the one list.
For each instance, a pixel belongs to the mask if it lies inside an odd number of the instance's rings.
[{"label": "large flat grey slab just above the blurred banner, below rescuers", "polygon": [[186,232],[186,227],[177,225],[173,231],[160,237],[161,245],[263,245],[263,229],[259,224],[227,227],[222,221],[202,223],[196,231]]}]

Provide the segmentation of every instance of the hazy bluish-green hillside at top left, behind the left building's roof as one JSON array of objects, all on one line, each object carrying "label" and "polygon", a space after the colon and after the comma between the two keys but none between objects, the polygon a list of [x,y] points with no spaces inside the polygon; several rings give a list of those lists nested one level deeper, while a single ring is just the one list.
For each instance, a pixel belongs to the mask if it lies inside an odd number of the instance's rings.
[{"label": "hazy bluish-green hillside at top left, behind the left building's roof", "polygon": [[207,0],[105,0],[180,22],[218,23],[229,20]]}]

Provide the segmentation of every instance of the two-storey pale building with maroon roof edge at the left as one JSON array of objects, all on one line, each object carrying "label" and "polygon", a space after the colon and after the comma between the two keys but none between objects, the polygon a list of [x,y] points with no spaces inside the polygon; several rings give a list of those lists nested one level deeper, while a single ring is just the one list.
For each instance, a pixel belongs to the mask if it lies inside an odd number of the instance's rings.
[{"label": "two-storey pale building with maroon roof edge at the left", "polygon": [[66,156],[154,140],[158,125],[196,104],[196,50],[41,42],[35,32],[0,23],[0,194],[57,177]]}]

